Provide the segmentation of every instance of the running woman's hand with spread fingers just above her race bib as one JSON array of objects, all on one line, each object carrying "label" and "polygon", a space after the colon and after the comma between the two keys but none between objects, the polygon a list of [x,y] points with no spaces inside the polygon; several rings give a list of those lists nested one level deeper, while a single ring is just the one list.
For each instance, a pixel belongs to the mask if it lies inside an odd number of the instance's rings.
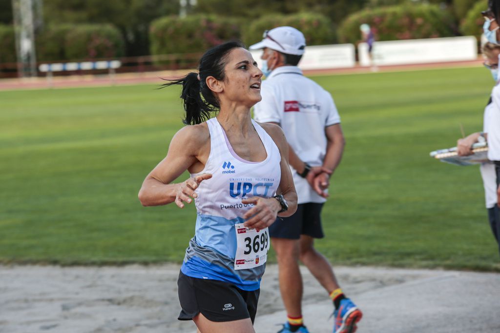
[{"label": "running woman's hand with spread fingers just above her race bib", "polygon": [[243,215],[243,218],[246,220],[245,227],[257,230],[264,229],[274,223],[281,210],[281,205],[276,198],[251,197],[241,200],[241,203],[254,205]]}]

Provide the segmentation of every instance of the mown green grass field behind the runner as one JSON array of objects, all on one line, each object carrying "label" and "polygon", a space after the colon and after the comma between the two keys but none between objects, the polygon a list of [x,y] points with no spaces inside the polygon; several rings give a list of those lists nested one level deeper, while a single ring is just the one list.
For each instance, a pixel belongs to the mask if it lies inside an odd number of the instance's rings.
[{"label": "mown green grass field behind the runner", "polygon": [[[319,251],[334,265],[500,271],[478,167],[428,156],[455,144],[460,123],[481,130],[489,73],[313,79],[332,93],[347,142]],[[0,91],[0,262],[181,262],[193,205],[137,200],[181,117],[174,87]]]}]

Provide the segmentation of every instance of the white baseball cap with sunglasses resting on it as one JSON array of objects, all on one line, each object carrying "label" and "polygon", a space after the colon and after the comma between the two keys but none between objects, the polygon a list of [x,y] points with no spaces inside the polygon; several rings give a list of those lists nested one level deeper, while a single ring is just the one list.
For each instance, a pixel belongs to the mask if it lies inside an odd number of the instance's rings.
[{"label": "white baseball cap with sunglasses resting on it", "polygon": [[262,35],[264,39],[248,47],[250,50],[258,50],[268,47],[285,54],[302,55],[305,49],[305,38],[302,32],[291,26],[278,26],[271,30],[265,30]]}]

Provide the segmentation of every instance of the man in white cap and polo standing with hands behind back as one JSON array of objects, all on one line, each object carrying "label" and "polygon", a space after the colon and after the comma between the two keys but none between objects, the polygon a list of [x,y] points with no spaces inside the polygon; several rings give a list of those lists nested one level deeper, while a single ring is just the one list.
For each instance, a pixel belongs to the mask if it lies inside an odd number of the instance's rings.
[{"label": "man in white cap and polo standing with hands behind back", "polygon": [[320,213],[326,201],[329,177],[342,157],[344,138],[331,95],[304,77],[297,64],[305,49],[304,35],[290,26],[265,31],[249,47],[263,49],[262,100],[254,107],[259,122],[274,123],[288,141],[289,163],[297,190],[297,212],[277,219],[271,227],[272,246],[279,267],[279,288],[288,320],[279,332],[306,333],[301,301],[300,260],[326,289],[335,310],[333,333],[352,333],[361,311],[346,298],[328,261],[313,247],[322,238]]}]

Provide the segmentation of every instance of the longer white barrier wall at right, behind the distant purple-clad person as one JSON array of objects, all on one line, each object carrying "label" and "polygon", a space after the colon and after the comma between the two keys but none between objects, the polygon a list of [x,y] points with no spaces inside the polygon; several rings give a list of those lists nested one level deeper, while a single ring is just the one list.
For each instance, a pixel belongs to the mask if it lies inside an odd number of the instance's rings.
[{"label": "longer white barrier wall at right, behind the distant purple-clad person", "polygon": [[[368,45],[357,48],[359,64],[371,65]],[[477,59],[477,41],[473,36],[375,41],[371,51],[374,65],[464,61]]]}]

